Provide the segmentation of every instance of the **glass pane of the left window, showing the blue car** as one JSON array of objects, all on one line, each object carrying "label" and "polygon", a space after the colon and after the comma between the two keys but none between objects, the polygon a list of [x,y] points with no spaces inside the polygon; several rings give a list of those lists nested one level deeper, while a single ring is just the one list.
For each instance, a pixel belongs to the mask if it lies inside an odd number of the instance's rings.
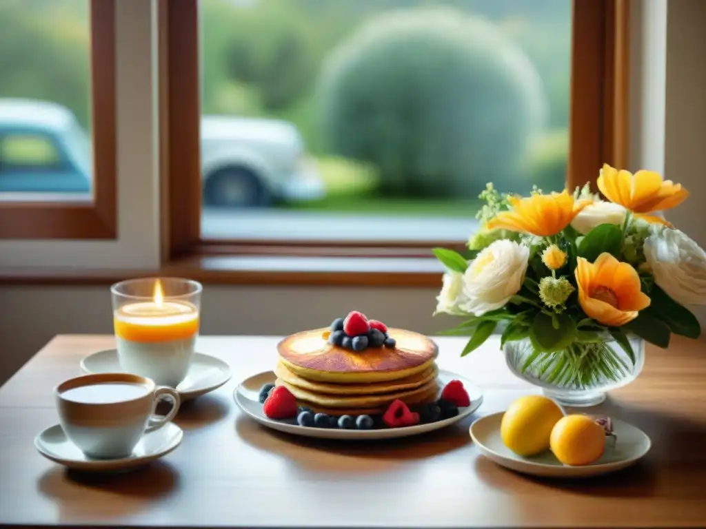
[{"label": "glass pane of the left window, showing the blue car", "polygon": [[88,0],[0,0],[0,200],[90,200]]}]

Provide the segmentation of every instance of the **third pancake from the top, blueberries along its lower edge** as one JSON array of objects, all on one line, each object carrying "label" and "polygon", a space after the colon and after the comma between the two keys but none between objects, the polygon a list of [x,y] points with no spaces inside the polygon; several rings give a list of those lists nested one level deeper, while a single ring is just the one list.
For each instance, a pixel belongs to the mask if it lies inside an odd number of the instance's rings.
[{"label": "third pancake from the top, blueberries along its lower edge", "polygon": [[[301,389],[292,384],[288,384],[282,379],[275,380],[277,386],[285,386],[289,391],[292,392],[297,401],[304,401],[313,404],[314,406],[320,406],[321,408],[330,408],[335,410],[340,409],[378,409],[384,411],[392,401],[395,399],[400,399],[407,404],[414,404],[428,399],[433,392],[434,396],[438,394],[438,382],[436,379],[431,379],[426,384],[415,388],[407,389],[405,391],[393,391],[385,394],[378,395],[354,395],[354,396],[343,396],[343,395],[329,395],[325,393],[315,393],[313,391],[307,391],[306,389]],[[339,415],[342,413],[337,412]]]}]

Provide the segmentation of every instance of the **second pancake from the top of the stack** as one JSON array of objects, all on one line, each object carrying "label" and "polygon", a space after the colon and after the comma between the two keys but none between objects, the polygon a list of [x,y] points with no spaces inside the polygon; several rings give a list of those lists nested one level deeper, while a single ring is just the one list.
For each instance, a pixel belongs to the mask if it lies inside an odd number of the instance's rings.
[{"label": "second pancake from the top of the stack", "polygon": [[407,389],[415,389],[423,386],[429,380],[436,378],[438,368],[436,364],[432,364],[426,370],[390,382],[372,382],[371,384],[327,384],[325,382],[316,382],[299,377],[299,375],[291,372],[284,364],[277,363],[275,367],[275,375],[287,384],[294,387],[313,391],[313,393],[325,393],[329,395],[373,395],[381,393],[391,393],[393,391],[404,391]]}]

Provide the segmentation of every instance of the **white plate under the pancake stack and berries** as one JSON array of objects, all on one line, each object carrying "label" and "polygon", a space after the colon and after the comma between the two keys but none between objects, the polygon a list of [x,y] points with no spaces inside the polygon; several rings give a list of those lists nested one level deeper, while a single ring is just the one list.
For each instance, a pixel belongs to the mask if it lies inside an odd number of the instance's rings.
[{"label": "white plate under the pancake stack and berries", "polygon": [[267,371],[254,375],[241,382],[233,392],[233,398],[239,408],[251,418],[255,419],[261,425],[286,432],[288,434],[302,435],[304,437],[318,437],[319,439],[395,439],[397,437],[407,437],[409,435],[423,434],[438,430],[448,425],[453,425],[467,417],[478,409],[478,406],[483,402],[483,394],[481,390],[474,386],[472,382],[455,373],[439,370],[438,378],[441,384],[446,384],[453,379],[463,382],[463,387],[468,391],[471,399],[471,405],[466,408],[459,408],[459,413],[455,417],[451,417],[437,422],[430,422],[417,426],[405,426],[402,428],[378,428],[376,430],[340,430],[337,428],[316,428],[309,426],[299,426],[294,420],[289,422],[282,420],[273,420],[268,418],[263,413],[263,405],[258,400],[260,389],[265,384],[273,384],[277,375],[272,371]]}]

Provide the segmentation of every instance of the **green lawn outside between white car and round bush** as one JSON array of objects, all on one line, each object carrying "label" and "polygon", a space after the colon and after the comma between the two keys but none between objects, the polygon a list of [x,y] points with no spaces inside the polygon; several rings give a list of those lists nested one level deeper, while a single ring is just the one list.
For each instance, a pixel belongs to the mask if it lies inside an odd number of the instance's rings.
[{"label": "green lawn outside between white car and round bush", "polygon": [[443,200],[397,198],[381,195],[376,171],[346,159],[312,159],[325,186],[326,196],[309,202],[287,202],[279,207],[302,211],[420,215],[428,217],[474,217],[479,199]]}]

